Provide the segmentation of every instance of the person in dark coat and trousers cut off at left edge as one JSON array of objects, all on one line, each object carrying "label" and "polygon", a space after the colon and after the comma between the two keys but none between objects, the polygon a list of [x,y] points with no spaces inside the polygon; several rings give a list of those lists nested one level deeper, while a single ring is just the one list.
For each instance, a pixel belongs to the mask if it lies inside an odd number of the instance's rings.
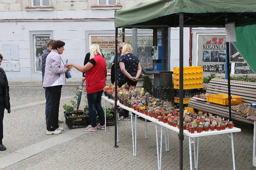
[{"label": "person in dark coat and trousers cut off at left edge", "polygon": [[[3,56],[0,54],[0,66],[2,64]],[[6,147],[3,145],[3,120],[4,120],[4,109],[8,113],[11,113],[10,96],[9,96],[9,85],[4,69],[0,68],[0,151],[5,151]]]}]

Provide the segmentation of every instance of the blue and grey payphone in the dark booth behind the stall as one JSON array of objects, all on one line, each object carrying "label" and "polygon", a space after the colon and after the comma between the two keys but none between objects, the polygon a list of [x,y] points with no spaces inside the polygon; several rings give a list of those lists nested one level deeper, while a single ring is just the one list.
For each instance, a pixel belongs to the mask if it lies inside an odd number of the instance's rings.
[{"label": "blue and grey payphone in the dark booth behind the stall", "polygon": [[153,58],[153,71],[163,71],[163,46],[153,46],[151,55]]}]

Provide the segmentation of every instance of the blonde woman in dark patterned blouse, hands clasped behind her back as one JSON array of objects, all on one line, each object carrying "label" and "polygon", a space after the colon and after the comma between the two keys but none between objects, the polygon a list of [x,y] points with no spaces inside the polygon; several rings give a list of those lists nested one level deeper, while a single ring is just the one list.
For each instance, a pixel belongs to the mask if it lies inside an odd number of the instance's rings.
[{"label": "blonde woman in dark patterned blouse, hands clasped behind her back", "polygon": [[[140,60],[132,54],[132,46],[125,44],[123,46],[122,55],[119,60],[118,69],[118,87],[127,83],[129,86],[136,86],[138,77],[141,73]],[[124,110],[124,117],[119,120],[129,120],[129,111]]]}]

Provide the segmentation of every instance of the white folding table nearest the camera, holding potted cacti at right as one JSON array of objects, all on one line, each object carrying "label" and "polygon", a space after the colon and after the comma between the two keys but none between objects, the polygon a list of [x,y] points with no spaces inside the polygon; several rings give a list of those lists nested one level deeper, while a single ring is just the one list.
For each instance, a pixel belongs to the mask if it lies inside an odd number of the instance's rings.
[{"label": "white folding table nearest the camera, holding potted cacti at right", "polygon": [[[171,126],[169,124],[166,124],[164,122],[156,121],[156,124],[159,124],[160,126],[162,126],[161,127],[161,140],[163,138],[163,127],[168,128],[168,129],[173,130],[173,131],[176,131],[178,133],[180,132],[178,127],[173,127],[173,126]],[[201,133],[197,133],[196,131],[195,131],[195,133],[190,133],[187,130],[183,130],[184,135],[188,136],[190,170],[193,169],[193,167],[192,167],[192,148],[191,148],[191,144],[194,144],[195,168],[198,169],[199,137],[210,136],[210,135],[219,135],[219,134],[226,134],[231,139],[233,170],[235,170],[236,167],[235,167],[235,152],[234,152],[233,133],[240,132],[240,131],[241,131],[241,129],[236,128],[236,127],[233,127],[232,129],[227,129],[226,128],[225,130],[221,130],[221,131],[217,131],[216,129],[215,129],[215,131],[210,131],[210,130],[209,131],[202,131]],[[195,138],[197,138],[197,147],[196,147]],[[158,143],[156,145],[158,145]],[[169,145],[169,143],[167,145]],[[161,148],[162,148],[162,142],[160,143],[160,159],[159,159],[159,166],[158,166],[159,170],[161,170],[161,162],[162,162],[162,158],[161,158],[162,157],[162,149]]]}]

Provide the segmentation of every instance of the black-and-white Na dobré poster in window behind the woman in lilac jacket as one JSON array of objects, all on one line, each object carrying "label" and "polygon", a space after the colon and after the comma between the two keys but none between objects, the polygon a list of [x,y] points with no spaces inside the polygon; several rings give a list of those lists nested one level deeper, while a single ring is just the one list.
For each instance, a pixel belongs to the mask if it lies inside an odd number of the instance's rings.
[{"label": "black-and-white Na dobr\u00e9 poster in window behind the woman in lilac jacket", "polygon": [[47,49],[47,42],[49,41],[50,36],[35,36],[36,42],[36,71],[42,71],[42,54]]}]

